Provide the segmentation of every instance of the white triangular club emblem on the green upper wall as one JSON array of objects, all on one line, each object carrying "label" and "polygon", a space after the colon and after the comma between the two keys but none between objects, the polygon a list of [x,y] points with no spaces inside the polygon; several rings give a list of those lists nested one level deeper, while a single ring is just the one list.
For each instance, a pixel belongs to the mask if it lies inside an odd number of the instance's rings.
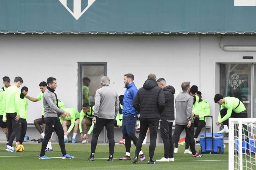
[{"label": "white triangular club emblem on the green upper wall", "polygon": [[73,17],[78,20],[87,9],[90,8],[90,6],[96,1],[96,0],[88,0],[88,5],[85,9],[81,9],[81,3],[82,0],[73,0],[73,11],[71,11],[69,9],[69,7],[67,7],[67,0],[59,0],[59,2],[62,3],[62,5],[67,9],[67,11],[73,15]]}]

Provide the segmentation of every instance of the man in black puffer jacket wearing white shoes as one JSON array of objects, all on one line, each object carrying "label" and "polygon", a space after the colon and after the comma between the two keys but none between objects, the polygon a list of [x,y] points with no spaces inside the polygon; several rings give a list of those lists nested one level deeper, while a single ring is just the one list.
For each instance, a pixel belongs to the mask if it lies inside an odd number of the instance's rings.
[{"label": "man in black puffer jacket wearing white shoes", "polygon": [[164,157],[159,162],[174,161],[173,158],[173,138],[171,134],[174,121],[174,96],[173,86],[167,86],[164,78],[159,78],[157,84],[164,91],[165,108],[160,118],[161,138],[164,143]]}]

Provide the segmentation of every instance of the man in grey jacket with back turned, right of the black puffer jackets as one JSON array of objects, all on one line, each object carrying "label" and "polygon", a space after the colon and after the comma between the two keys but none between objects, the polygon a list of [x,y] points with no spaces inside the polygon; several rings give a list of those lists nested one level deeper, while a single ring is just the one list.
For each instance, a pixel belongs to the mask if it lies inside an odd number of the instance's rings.
[{"label": "man in grey jacket with back turned, right of the black puffer jackets", "polygon": [[189,92],[190,82],[183,82],[182,93],[178,94],[175,99],[176,119],[173,141],[174,143],[178,143],[180,134],[185,129],[186,136],[189,139],[189,146],[192,151],[192,157],[201,157],[202,154],[198,154],[195,152],[194,120],[192,116],[193,97],[189,94]]}]

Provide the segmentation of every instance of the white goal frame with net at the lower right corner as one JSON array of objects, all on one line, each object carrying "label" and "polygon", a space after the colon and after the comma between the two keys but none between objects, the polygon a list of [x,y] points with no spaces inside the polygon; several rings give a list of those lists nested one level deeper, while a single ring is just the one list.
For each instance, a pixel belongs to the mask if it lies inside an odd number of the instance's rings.
[{"label": "white goal frame with net at the lower right corner", "polygon": [[256,170],[256,118],[229,118],[228,124],[228,169]]}]

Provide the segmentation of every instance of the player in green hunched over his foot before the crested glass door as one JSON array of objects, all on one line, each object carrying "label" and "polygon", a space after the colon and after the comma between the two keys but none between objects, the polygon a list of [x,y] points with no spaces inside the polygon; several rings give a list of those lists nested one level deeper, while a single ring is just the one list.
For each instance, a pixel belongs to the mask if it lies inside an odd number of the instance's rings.
[{"label": "player in green hunched over his foot before the crested glass door", "polygon": [[223,129],[218,133],[228,133],[228,118],[247,118],[247,111],[238,98],[235,97],[225,97],[221,94],[215,94],[214,102],[218,103],[220,106],[220,113],[218,117],[217,125],[223,124]]}]

